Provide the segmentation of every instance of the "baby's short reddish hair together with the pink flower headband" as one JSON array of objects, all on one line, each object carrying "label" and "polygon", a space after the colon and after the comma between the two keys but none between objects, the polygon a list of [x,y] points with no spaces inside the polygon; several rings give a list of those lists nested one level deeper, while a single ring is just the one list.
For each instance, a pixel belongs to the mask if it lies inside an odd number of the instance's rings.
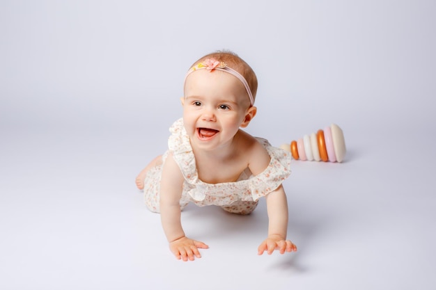
[{"label": "baby's short reddish hair together with the pink flower headband", "polygon": [[240,79],[245,89],[247,90],[247,98],[250,99],[251,106],[254,105],[256,92],[258,88],[258,80],[254,70],[237,54],[231,51],[217,51],[199,58],[198,61],[192,64],[187,76],[195,70],[205,68],[207,70],[222,70],[233,74]]}]

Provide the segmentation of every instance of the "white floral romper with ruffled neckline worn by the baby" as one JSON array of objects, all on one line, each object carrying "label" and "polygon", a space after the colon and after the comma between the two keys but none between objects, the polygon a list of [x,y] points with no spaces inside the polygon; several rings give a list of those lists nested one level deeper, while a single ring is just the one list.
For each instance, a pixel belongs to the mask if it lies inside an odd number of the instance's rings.
[{"label": "white floral romper with ruffled neckline worn by the baby", "polygon": [[[169,151],[178,164],[185,182],[182,186],[180,209],[189,202],[198,206],[217,205],[235,214],[250,214],[256,209],[258,199],[274,191],[290,175],[291,155],[285,150],[272,147],[267,140],[256,138],[270,154],[270,164],[263,172],[254,176],[247,168],[236,182],[208,184],[198,178],[194,153],[189,136],[180,118],[170,127]],[[165,161],[169,151],[162,156]],[[159,212],[159,188],[162,165],[147,172],[144,182],[144,197],[150,211]]]}]

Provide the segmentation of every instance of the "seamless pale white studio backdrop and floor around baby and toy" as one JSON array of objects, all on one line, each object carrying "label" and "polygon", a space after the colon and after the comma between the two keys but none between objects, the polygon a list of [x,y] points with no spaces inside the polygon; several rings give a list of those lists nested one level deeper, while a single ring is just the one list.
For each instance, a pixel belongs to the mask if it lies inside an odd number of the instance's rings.
[{"label": "seamless pale white studio backdrop and floor around baby and toy", "polygon": [[[435,289],[435,1],[0,1],[0,289]],[[293,161],[296,254],[190,205],[173,258],[134,177],[166,149],[185,72],[217,49],[259,79],[273,145],[332,122],[345,162]]]}]

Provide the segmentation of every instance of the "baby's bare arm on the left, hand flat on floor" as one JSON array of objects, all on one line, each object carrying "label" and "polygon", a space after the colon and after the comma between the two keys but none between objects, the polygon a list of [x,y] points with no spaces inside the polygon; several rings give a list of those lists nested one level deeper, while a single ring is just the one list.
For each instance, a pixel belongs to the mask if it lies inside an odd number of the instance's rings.
[{"label": "baby's bare arm on the left, hand flat on floor", "polygon": [[160,214],[162,227],[169,241],[171,252],[177,259],[183,261],[200,258],[198,248],[209,248],[201,241],[195,241],[185,236],[180,221],[180,198],[182,196],[183,175],[174,161],[172,154],[166,158],[162,168],[160,184]]}]

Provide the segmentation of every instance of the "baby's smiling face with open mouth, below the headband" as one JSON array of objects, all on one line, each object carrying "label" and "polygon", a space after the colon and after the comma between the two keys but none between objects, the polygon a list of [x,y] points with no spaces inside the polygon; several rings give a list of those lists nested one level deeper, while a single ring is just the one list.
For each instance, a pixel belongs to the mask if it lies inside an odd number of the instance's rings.
[{"label": "baby's smiling face with open mouth, below the headband", "polygon": [[183,121],[193,147],[210,150],[231,142],[250,107],[240,80],[218,70],[189,74],[182,103]]}]

